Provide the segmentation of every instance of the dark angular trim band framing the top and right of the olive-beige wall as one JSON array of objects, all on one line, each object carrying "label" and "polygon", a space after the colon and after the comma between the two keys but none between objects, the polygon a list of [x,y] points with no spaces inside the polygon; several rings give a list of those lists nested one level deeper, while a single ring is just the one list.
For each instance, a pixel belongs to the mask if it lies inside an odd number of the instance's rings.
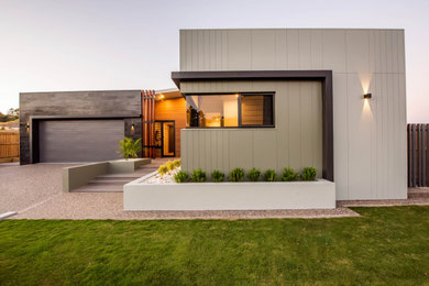
[{"label": "dark angular trim band framing the top and right of the olive-beige wall", "polygon": [[173,72],[178,88],[196,80],[319,80],[322,84],[322,177],[333,182],[333,106],[332,70],[228,70]]}]

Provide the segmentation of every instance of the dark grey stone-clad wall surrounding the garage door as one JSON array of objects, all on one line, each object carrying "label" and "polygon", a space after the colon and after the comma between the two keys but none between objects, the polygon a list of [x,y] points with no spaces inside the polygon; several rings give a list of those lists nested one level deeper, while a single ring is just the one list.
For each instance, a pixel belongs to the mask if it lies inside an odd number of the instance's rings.
[{"label": "dark grey stone-clad wall surrounding the garage door", "polygon": [[[20,94],[21,164],[31,163],[30,133],[37,132],[37,130],[26,130],[26,124],[31,124],[31,117],[125,118],[125,135],[138,139],[142,136],[141,102],[140,90]],[[134,135],[129,134],[131,124],[135,125]]]}]

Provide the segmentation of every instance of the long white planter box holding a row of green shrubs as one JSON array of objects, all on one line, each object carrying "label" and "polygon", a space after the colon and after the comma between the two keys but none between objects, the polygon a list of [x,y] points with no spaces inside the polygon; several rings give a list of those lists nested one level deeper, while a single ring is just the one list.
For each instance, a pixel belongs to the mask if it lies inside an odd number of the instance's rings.
[{"label": "long white planter box holding a row of green shrubs", "polygon": [[145,184],[123,187],[124,210],[334,209],[336,184],[316,182]]}]

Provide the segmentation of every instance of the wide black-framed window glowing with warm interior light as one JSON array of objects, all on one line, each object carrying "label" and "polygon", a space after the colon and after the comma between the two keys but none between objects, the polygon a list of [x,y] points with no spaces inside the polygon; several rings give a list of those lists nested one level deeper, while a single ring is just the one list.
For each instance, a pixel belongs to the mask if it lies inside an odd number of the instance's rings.
[{"label": "wide black-framed window glowing with warm interior light", "polygon": [[186,95],[187,127],[274,127],[274,95]]}]

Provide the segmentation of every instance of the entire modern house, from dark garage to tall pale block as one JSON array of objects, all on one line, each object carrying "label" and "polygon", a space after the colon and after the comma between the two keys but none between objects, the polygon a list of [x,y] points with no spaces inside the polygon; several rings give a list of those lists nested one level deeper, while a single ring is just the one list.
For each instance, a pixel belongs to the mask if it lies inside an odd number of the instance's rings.
[{"label": "entire modern house, from dark garage to tall pale block", "polygon": [[105,160],[125,135],[187,172],[312,166],[339,200],[407,197],[404,30],[180,30],[172,79],[21,94],[21,164]]}]

